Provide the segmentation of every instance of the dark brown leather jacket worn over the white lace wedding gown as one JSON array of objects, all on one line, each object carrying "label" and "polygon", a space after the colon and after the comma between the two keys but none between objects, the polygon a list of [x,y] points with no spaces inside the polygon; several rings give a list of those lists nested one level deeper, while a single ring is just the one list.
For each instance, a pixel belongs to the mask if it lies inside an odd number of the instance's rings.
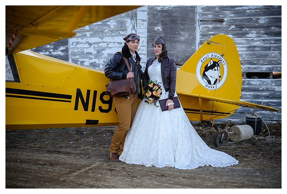
[{"label": "dark brown leather jacket worn over the white lace wedding gown", "polygon": [[[152,61],[156,59],[156,56],[148,59],[146,63],[146,70],[143,75],[143,88],[146,89],[146,85],[150,80],[148,76],[148,67],[152,65]],[[161,74],[162,74],[162,84],[165,91],[169,91],[168,99],[173,99],[175,94],[175,83],[177,78],[177,66],[174,63],[174,59],[171,57],[166,57],[161,62]]]}]

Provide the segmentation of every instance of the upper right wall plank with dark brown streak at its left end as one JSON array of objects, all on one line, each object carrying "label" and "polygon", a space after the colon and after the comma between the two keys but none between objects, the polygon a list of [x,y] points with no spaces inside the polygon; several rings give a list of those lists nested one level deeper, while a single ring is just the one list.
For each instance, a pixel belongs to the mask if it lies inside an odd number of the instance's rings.
[{"label": "upper right wall plank with dark brown streak at its left end", "polygon": [[219,19],[200,19],[203,25],[236,25],[236,24],[267,24],[281,23],[281,17],[255,17],[255,18],[219,18]]}]

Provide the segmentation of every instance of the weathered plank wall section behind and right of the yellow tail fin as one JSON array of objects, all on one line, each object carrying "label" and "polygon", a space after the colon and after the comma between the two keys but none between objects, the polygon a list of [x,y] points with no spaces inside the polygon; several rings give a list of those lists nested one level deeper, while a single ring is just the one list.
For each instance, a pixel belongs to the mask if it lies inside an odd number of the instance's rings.
[{"label": "weathered plank wall section behind and right of the yellow tail fin", "polygon": [[[216,34],[226,34],[236,44],[242,72],[281,72],[281,6],[197,6],[199,45]],[[271,106],[280,112],[242,108],[226,119],[244,121],[259,112],[264,120],[281,120],[281,79],[243,79],[240,100]]]}]

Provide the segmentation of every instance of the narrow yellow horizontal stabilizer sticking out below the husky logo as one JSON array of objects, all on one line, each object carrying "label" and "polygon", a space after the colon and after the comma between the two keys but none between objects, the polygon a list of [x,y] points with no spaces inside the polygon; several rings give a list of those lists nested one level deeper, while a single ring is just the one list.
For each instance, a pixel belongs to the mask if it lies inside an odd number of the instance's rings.
[{"label": "narrow yellow horizontal stabilizer sticking out below the husky logo", "polygon": [[249,103],[249,102],[243,102],[243,101],[235,100],[235,99],[234,100],[228,100],[228,99],[203,96],[203,95],[197,95],[197,94],[189,94],[189,93],[184,93],[184,92],[179,92],[179,91],[176,91],[176,93],[179,95],[190,96],[190,97],[194,97],[194,98],[201,98],[201,99],[210,100],[210,101],[216,101],[216,102],[221,102],[221,103],[238,105],[240,107],[259,109],[259,110],[263,110],[263,111],[273,111],[273,112],[279,111],[278,109],[274,109],[272,107],[257,105],[257,104],[253,104],[253,103]]}]

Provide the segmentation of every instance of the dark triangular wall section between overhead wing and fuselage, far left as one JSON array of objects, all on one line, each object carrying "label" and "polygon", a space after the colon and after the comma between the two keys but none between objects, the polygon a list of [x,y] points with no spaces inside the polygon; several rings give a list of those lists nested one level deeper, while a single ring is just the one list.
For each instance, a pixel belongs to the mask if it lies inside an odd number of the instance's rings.
[{"label": "dark triangular wall section between overhead wing and fuselage, far left", "polygon": [[62,39],[47,45],[36,47],[31,49],[31,51],[63,61],[69,61],[69,39]]}]

